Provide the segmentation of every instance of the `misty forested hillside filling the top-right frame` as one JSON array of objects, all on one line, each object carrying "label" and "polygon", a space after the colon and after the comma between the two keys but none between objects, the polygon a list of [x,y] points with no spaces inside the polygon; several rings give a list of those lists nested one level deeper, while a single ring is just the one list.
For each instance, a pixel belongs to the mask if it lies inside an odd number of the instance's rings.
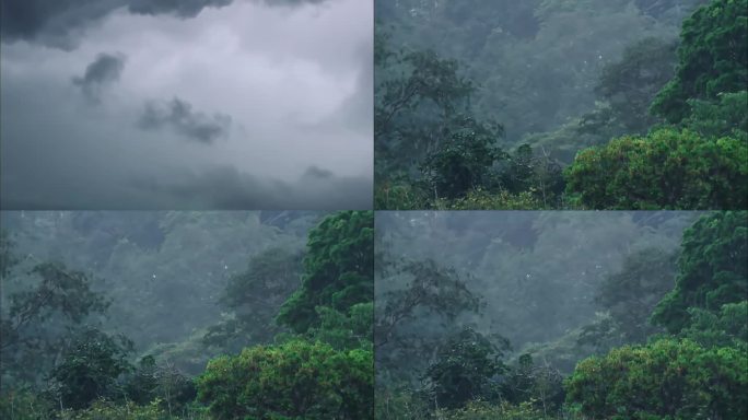
[{"label": "misty forested hillside filling the top-right frame", "polygon": [[744,209],[746,0],[377,0],[377,209]]}]

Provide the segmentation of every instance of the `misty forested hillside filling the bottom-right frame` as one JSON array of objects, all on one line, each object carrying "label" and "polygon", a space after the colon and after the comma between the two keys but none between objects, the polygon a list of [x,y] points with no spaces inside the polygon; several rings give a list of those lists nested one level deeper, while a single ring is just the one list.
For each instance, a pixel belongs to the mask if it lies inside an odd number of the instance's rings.
[{"label": "misty forested hillside filling the bottom-right frame", "polygon": [[748,214],[376,218],[377,419],[743,419]]}]

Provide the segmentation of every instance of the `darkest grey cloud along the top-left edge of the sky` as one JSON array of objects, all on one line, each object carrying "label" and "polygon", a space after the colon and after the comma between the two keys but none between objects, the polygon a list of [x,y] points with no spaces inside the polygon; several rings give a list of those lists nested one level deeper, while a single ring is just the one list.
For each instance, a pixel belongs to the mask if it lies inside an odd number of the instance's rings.
[{"label": "darkest grey cloud along the top-left edge of the sky", "polygon": [[113,11],[194,18],[204,8],[221,8],[232,0],[3,0],[0,33],[4,43],[27,40],[73,49],[84,32]]}]

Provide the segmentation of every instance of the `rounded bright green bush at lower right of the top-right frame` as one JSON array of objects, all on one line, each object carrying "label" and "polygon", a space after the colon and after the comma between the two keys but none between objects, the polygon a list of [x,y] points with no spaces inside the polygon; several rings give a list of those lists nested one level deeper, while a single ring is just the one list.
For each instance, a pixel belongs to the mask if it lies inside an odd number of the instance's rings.
[{"label": "rounded bright green bush at lower right of the top-right frame", "polygon": [[564,175],[569,200],[587,209],[741,209],[748,136],[675,129],[627,136],[580,152]]}]

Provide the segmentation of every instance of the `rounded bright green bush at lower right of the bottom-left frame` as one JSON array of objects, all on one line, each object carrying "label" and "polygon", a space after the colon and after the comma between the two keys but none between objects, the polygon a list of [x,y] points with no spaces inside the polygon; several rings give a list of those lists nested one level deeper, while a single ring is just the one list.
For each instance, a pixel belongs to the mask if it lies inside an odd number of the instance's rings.
[{"label": "rounded bright green bush at lower right of the bottom-left frame", "polygon": [[212,360],[198,398],[219,420],[366,419],[373,405],[372,352],[293,340]]}]

